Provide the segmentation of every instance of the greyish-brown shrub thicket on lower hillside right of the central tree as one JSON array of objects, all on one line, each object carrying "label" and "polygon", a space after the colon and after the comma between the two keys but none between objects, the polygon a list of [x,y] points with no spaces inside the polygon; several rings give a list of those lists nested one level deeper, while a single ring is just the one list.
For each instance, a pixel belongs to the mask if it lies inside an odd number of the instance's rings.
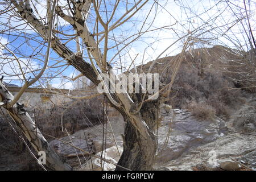
[{"label": "greyish-brown shrub thicket on lower hillside right of the central tree", "polygon": [[216,110],[218,117],[228,119],[230,109],[240,105],[241,90],[229,90],[234,84],[221,72],[205,70],[203,75],[199,75],[198,71],[191,65],[182,65],[173,85],[174,92],[170,95],[174,98],[168,104],[184,109],[192,100],[204,101]]}]

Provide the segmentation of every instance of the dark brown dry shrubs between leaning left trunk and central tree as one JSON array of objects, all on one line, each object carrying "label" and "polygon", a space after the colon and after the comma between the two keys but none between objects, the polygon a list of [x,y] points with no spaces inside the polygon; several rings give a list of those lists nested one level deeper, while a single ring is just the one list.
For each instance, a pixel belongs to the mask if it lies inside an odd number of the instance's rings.
[{"label": "dark brown dry shrubs between leaning left trunk and central tree", "polygon": [[[103,97],[95,97],[89,100],[74,100],[52,109],[38,109],[35,113],[36,125],[43,133],[53,137],[67,135],[65,129],[73,134],[78,130],[105,122],[103,102]],[[51,138],[47,139],[51,140]]]}]

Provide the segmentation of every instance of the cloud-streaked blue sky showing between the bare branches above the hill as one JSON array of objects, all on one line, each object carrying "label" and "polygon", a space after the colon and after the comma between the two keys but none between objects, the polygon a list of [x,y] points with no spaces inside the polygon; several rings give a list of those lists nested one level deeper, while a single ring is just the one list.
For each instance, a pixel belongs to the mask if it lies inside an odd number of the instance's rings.
[{"label": "cloud-streaked blue sky showing between the bare branches above the hill", "polygon": [[[63,2],[63,1],[60,1]],[[114,1],[109,1],[110,3],[113,3]],[[140,39],[137,41],[131,43],[129,46],[127,46],[123,51],[115,57],[115,59],[112,61],[112,65],[114,68],[121,67],[119,64],[119,61],[122,61],[122,67],[129,67],[132,60],[134,61],[135,65],[139,65],[141,63],[147,63],[148,61],[154,60],[160,53],[163,52],[164,49],[166,49],[170,44],[174,43],[176,40],[178,40],[181,36],[187,34],[189,31],[194,31],[199,26],[203,26],[204,31],[210,31],[211,33],[207,33],[204,35],[200,35],[203,31],[198,31],[193,36],[199,36],[201,39],[204,38],[210,38],[214,37],[217,38],[213,41],[213,43],[216,44],[228,44],[228,46],[232,47],[232,43],[230,43],[229,40],[226,40],[225,37],[217,37],[217,34],[221,34],[221,32],[225,32],[226,30],[231,30],[228,32],[230,38],[236,40],[240,40],[240,42],[243,42],[243,34],[237,34],[237,32],[241,31],[241,26],[233,26],[231,29],[230,26],[232,26],[232,22],[237,19],[237,17],[232,16],[232,8],[234,11],[238,12],[236,10],[236,5],[242,6],[242,1],[237,2],[234,1],[234,4],[230,4],[230,7],[226,7],[223,3],[216,1],[216,0],[196,0],[196,1],[167,1],[167,0],[161,0],[158,1],[158,3],[154,3],[155,1],[149,1],[146,6],[143,7],[141,11],[139,11],[133,18],[129,20],[129,22],[126,22],[122,26],[118,27],[113,32],[110,32],[110,38],[113,38],[113,34],[115,36],[115,39],[117,40],[123,40],[127,36],[131,36],[133,34],[137,34],[139,30],[147,30],[149,25],[151,27],[148,30],[154,30],[156,28],[164,27],[159,30],[155,31],[148,31],[146,34],[144,34]],[[43,6],[46,4],[45,1],[41,2],[42,5],[38,3],[34,3],[36,9],[38,10],[39,14],[37,15],[41,18],[45,17],[46,9],[43,8]],[[153,5],[154,4],[154,5]],[[217,4],[217,6],[215,6]],[[255,12],[256,3],[255,1],[250,1],[250,10],[251,12]],[[181,8],[180,6],[185,6],[187,8]],[[101,10],[105,10],[104,6],[101,6]],[[189,7],[189,8],[188,8]],[[110,10],[110,13],[112,11],[111,5],[106,5],[106,8]],[[5,6],[0,5],[0,10],[4,10]],[[118,10],[116,11],[116,14],[113,18],[113,21],[118,19],[122,13],[126,11],[126,7],[123,3],[120,3],[118,6]],[[206,11],[206,13],[204,13]],[[34,11],[35,12],[35,11]],[[218,15],[218,18],[213,19],[214,16]],[[238,12],[239,15],[239,12]],[[242,14],[241,14],[242,15]],[[108,17],[110,14],[108,15]],[[146,23],[143,24],[143,20],[148,16],[146,19]],[[0,28],[1,30],[7,30],[6,24],[11,25],[13,27],[18,28],[19,30],[9,32],[9,31],[3,31],[3,34],[0,34],[0,41],[3,44],[7,44],[7,47],[11,49],[11,51],[15,52],[15,55],[23,61],[24,68],[26,65],[29,65],[28,68],[24,69],[23,71],[29,71],[38,69],[42,67],[43,61],[45,59],[44,55],[46,53],[46,46],[47,43],[44,42],[40,36],[36,34],[36,32],[32,31],[30,28],[26,27],[24,22],[20,20],[15,20],[12,18],[10,21],[8,20],[10,17],[10,13],[6,13],[0,16]],[[90,12],[90,16],[88,19],[88,27],[90,30],[93,30],[94,27],[94,18],[95,13],[92,10]],[[102,16],[104,19],[106,19],[106,16]],[[251,15],[251,26],[253,27],[253,30],[255,32],[255,14]],[[153,21],[154,20],[154,21]],[[208,22],[208,24],[205,24],[205,22]],[[8,25],[8,26],[9,26]],[[172,26],[171,26],[172,25]],[[72,27],[69,26],[67,23],[65,23],[64,20],[59,19],[58,21],[59,28],[62,28],[64,30],[65,34],[74,34],[74,31],[72,30]],[[221,28],[218,28],[217,30],[214,29],[214,27],[221,26]],[[102,30],[102,28],[100,27]],[[10,35],[8,35],[10,34]],[[22,36],[20,36],[22,35]],[[26,36],[26,38],[24,38]],[[30,40],[30,38],[36,39],[36,40]],[[175,55],[180,52],[182,45],[184,43],[185,39],[181,39],[178,41],[174,46],[172,46],[170,49],[168,49],[166,52],[162,54],[160,57],[164,56],[171,56]],[[66,40],[63,40],[65,42]],[[126,41],[125,44],[127,44],[129,41]],[[100,47],[102,47],[102,44],[104,41],[101,42]],[[41,44],[45,44],[46,46],[42,46]],[[109,47],[113,46],[115,44],[114,40],[109,40]],[[195,48],[200,46],[200,43],[195,43]],[[75,40],[71,40],[67,43],[67,46],[72,49],[73,51],[76,51],[75,46]],[[210,46],[210,45],[208,45]],[[123,47],[119,46],[118,49],[121,49]],[[0,64],[1,69],[5,70],[5,72],[8,73],[16,73],[18,72],[16,68],[18,65],[15,61],[9,61],[6,58],[6,54],[8,51],[6,49],[1,48],[0,46]],[[36,56],[29,57],[31,55],[34,55],[35,52],[37,53]],[[108,60],[113,59],[113,55],[117,53],[117,48],[110,49],[108,51]],[[28,56],[28,57],[24,57]],[[119,60],[119,56],[121,56]],[[13,57],[12,55],[9,55],[9,58]],[[86,57],[86,54],[85,54]],[[46,82],[48,81],[49,84],[56,88],[73,88],[74,83],[70,81],[69,78],[75,77],[79,74],[79,72],[75,71],[75,69],[71,66],[64,66],[60,68],[51,68],[51,65],[56,64],[57,61],[61,61],[61,57],[57,56],[56,53],[51,51],[51,59],[49,61],[49,69],[44,73],[43,77],[49,77],[49,76],[56,76],[52,80],[45,80],[41,79],[39,82],[36,82],[34,86],[46,86]],[[86,60],[86,59],[85,59]],[[6,63],[5,66],[3,66]],[[64,65],[66,62],[65,60],[61,61],[59,64],[56,65]],[[1,71],[2,72],[2,71]],[[59,72],[60,74],[57,75],[56,72]],[[120,73],[120,71],[118,72]],[[31,73],[27,73],[26,77],[33,77]],[[6,76],[6,79],[8,81],[11,81],[13,84],[22,85],[22,81],[20,81],[22,77],[17,76]],[[63,85],[64,84],[64,85]]]}]

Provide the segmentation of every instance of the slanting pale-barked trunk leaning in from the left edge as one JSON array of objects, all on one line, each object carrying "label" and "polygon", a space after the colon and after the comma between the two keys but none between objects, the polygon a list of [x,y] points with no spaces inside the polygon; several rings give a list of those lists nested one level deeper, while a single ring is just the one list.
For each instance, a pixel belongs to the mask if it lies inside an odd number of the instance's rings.
[{"label": "slanting pale-barked trunk leaning in from the left edge", "polygon": [[64,163],[63,160],[60,159],[59,155],[49,147],[47,140],[43,137],[38,127],[36,127],[33,119],[27,111],[24,110],[24,105],[16,102],[16,104],[10,106],[9,103],[14,99],[14,96],[7,90],[2,80],[0,80],[0,96],[0,105],[8,111],[11,118],[13,118],[16,125],[26,136],[35,150],[37,152],[46,152],[47,167],[55,170],[72,170],[72,168],[68,164]]}]

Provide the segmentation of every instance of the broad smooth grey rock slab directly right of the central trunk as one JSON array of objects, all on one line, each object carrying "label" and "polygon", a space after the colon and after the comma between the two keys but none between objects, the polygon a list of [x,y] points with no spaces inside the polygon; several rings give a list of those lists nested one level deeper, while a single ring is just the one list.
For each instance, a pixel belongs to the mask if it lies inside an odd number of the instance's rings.
[{"label": "broad smooth grey rock slab directly right of the central trunk", "polygon": [[191,148],[213,142],[227,133],[216,129],[227,129],[225,121],[221,118],[199,121],[191,113],[181,109],[174,109],[172,113],[166,113],[166,110],[162,109],[161,115],[162,126],[158,129],[160,152],[157,154],[156,162],[179,158]]}]

